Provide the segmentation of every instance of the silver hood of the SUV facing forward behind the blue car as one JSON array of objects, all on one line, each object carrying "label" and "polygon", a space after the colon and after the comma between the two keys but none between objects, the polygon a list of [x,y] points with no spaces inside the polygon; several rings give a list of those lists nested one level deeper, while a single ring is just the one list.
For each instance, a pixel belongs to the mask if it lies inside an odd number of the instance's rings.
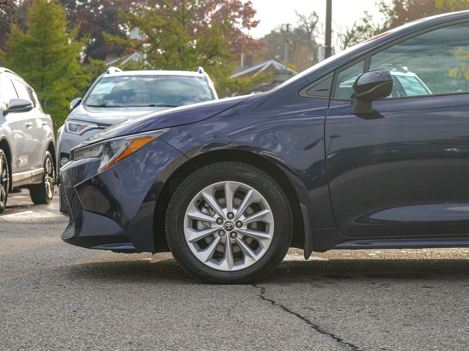
[{"label": "silver hood of the SUV facing forward behind the blue car", "polygon": [[167,109],[171,107],[91,107],[80,104],[70,112],[68,118],[98,125],[111,125],[130,117]]}]

